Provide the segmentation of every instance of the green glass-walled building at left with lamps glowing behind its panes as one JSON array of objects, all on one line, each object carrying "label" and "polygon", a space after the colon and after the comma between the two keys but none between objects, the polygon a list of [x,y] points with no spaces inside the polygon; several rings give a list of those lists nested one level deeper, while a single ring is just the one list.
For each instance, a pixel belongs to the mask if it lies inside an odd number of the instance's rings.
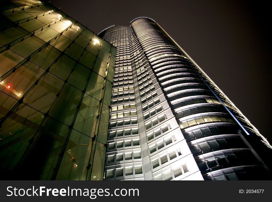
[{"label": "green glass-walled building at left with lamps glowing behind its panes", "polygon": [[116,48],[48,3],[1,11],[0,179],[103,180]]}]

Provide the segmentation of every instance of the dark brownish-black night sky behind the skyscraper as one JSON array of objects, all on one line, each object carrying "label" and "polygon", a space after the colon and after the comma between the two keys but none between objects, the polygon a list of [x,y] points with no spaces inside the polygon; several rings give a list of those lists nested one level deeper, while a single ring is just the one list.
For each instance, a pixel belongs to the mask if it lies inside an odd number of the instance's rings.
[{"label": "dark brownish-black night sky behind the skyscraper", "polygon": [[154,19],[272,143],[270,10],[256,1],[52,0],[99,33]]}]

